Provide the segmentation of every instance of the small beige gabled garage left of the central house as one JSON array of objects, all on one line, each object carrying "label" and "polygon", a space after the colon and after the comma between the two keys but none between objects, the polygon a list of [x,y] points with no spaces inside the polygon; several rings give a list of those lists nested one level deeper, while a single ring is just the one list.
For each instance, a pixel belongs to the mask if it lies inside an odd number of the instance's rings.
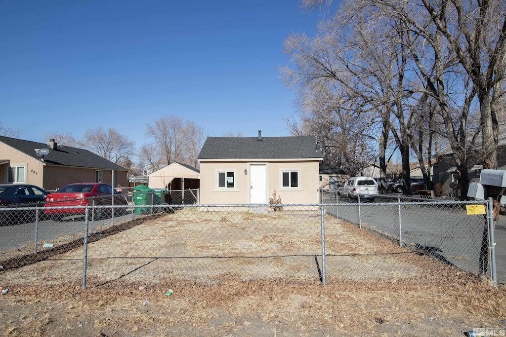
[{"label": "small beige gabled garage left of the central house", "polygon": [[172,163],[148,175],[148,187],[169,190],[199,188],[200,171],[190,165]]}]

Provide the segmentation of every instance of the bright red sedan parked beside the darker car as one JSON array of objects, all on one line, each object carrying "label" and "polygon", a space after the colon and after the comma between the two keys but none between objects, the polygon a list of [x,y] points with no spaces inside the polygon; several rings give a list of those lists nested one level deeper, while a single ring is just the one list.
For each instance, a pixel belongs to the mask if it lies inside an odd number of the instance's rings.
[{"label": "bright red sedan parked beside the darker car", "polygon": [[[114,193],[114,194],[113,194]],[[110,185],[98,182],[80,182],[68,184],[46,197],[45,207],[67,207],[87,205],[127,205],[126,198],[114,190]],[[85,214],[85,208],[73,209],[44,209],[44,212],[56,217],[62,215]],[[94,214],[102,214],[105,208],[97,208]],[[110,209],[107,209],[110,212]]]}]

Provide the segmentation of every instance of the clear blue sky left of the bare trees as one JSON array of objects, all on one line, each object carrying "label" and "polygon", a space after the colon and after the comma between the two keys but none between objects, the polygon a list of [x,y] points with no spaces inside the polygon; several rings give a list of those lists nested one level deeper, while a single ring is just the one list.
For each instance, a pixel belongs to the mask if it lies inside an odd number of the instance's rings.
[{"label": "clear blue sky left of the bare trees", "polygon": [[165,115],[209,136],[288,135],[283,40],[320,18],[297,0],[0,0],[0,121],[41,142],[112,127],[137,148]]}]

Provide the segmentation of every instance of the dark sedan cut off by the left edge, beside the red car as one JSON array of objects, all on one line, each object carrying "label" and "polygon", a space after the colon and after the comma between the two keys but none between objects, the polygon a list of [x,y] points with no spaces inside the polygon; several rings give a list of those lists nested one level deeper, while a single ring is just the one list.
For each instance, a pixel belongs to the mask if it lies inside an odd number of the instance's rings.
[{"label": "dark sedan cut off by the left edge, beside the red car", "polygon": [[[0,185],[0,208],[30,207],[46,201],[48,192],[30,184]],[[4,211],[0,209],[0,224],[35,221],[35,211]]]}]

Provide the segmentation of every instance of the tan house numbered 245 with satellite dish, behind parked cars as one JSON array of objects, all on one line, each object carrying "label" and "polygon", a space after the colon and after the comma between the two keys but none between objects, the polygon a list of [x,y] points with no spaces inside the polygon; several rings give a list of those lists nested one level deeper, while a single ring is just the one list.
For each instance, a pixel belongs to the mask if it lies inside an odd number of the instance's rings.
[{"label": "tan house numbered 245 with satellite dish, behind parked cars", "polygon": [[127,173],[124,167],[88,150],[61,146],[54,139],[45,144],[0,136],[0,183],[28,183],[46,190],[73,182],[103,182],[114,187],[128,184]]}]

